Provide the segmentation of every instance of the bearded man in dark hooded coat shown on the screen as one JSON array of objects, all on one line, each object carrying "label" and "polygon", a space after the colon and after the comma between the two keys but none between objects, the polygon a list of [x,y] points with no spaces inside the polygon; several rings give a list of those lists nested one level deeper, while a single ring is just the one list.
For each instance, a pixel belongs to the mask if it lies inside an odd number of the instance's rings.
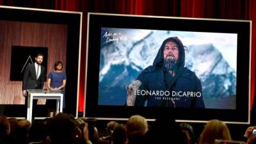
[{"label": "bearded man in dark hooded coat shown on the screen", "polygon": [[205,108],[200,79],[184,67],[185,49],[176,36],[164,40],[153,64],[137,77],[140,85],[127,93],[127,106]]}]

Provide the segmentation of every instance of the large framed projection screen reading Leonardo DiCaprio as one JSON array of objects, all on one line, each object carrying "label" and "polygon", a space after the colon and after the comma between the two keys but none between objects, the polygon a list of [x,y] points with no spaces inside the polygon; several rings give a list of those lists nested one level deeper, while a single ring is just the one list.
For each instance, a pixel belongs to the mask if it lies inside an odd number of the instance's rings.
[{"label": "large framed projection screen reading Leonardo DiCaprio", "polygon": [[87,38],[85,116],[250,123],[250,20],[88,13]]}]

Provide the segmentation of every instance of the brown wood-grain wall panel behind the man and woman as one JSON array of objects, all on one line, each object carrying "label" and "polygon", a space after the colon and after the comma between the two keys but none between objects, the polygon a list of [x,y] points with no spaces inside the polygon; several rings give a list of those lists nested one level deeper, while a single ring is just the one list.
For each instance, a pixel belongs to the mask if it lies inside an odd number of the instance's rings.
[{"label": "brown wood-grain wall panel behind the man and woman", "polygon": [[[0,20],[0,31],[0,104],[24,104],[22,81],[10,81],[12,45],[47,47],[47,74],[54,70],[55,61],[63,61],[65,71],[67,26]],[[44,102],[39,100],[40,104]]]}]

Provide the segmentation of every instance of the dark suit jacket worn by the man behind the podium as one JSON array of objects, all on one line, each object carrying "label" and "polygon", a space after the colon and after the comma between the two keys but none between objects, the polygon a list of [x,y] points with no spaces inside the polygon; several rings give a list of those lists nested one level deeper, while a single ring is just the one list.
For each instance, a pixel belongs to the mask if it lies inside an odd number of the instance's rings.
[{"label": "dark suit jacket worn by the man behind the podium", "polygon": [[41,72],[36,79],[35,63],[29,64],[24,72],[22,90],[43,89],[45,81],[45,67],[41,65]]}]

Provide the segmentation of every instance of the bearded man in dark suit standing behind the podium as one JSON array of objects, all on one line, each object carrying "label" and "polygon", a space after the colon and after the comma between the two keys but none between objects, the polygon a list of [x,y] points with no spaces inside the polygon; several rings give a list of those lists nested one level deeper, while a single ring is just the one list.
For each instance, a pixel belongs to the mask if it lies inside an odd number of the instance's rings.
[{"label": "bearded man in dark suit standing behind the podium", "polygon": [[[22,81],[22,95],[26,97],[25,105],[28,105],[28,93],[26,90],[42,90],[45,81],[45,67],[42,66],[44,54],[36,54],[35,63],[29,64],[24,72]],[[33,108],[35,108],[37,100],[33,100]]]}]

